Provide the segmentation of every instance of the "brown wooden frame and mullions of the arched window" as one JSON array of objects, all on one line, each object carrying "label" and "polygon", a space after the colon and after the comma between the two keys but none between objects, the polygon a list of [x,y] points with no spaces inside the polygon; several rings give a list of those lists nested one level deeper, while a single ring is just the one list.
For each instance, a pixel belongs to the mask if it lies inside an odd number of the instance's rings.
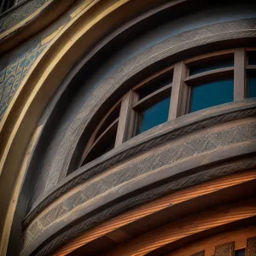
[{"label": "brown wooden frame and mullions of the arched window", "polygon": [[[251,70],[256,71],[256,65],[248,65],[247,53],[250,51],[256,51],[256,48],[228,49],[206,55],[199,55],[185,61],[179,61],[158,73],[154,73],[147,79],[144,79],[131,90],[128,90],[125,95],[119,99],[119,102],[114,104],[113,108],[111,108],[103,117],[101,123],[97,125],[96,130],[93,132],[84,148],[84,153],[79,166],[84,163],[86,156],[90,154],[90,150],[99,143],[102,136],[111,128],[110,126],[113,125],[108,125],[108,128],[105,131],[102,131],[102,134],[96,138],[97,132],[100,131],[104,121],[108,119],[109,114],[111,114],[114,108],[117,108],[119,104],[119,119],[114,121],[118,122],[114,148],[131,139],[131,137],[136,136],[139,111],[150,107],[154,102],[159,102],[166,96],[170,96],[171,101],[167,121],[189,113],[191,88],[196,84],[216,81],[218,79],[233,78],[234,102],[245,99],[248,95],[248,72]],[[233,55],[234,66],[220,67],[189,76],[189,66],[191,67],[191,65],[195,65],[195,63],[198,65],[208,60],[211,61],[212,58],[221,61],[221,59],[229,55]],[[139,91],[141,89],[148,86],[148,84],[157,83],[158,79],[168,75],[172,75],[172,83],[155,90],[148,96],[144,96],[142,99],[139,98]]]}]

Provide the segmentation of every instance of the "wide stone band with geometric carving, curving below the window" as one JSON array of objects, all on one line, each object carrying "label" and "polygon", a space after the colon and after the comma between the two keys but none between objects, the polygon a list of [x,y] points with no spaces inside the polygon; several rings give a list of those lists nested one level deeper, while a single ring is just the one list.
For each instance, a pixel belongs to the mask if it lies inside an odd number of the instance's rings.
[{"label": "wide stone band with geometric carving, curving below the window", "polygon": [[[255,118],[242,119],[235,123],[230,122],[179,137],[173,140],[172,143],[151,149],[128,160],[127,163],[121,163],[119,166],[114,166],[113,169],[106,170],[108,172],[105,172],[102,176],[85,182],[79,186],[79,190],[71,190],[67,196],[64,195],[57,203],[53,203],[49,208],[44,209],[44,212],[41,212],[27,227],[24,233],[23,248],[28,247],[32,241],[41,236],[44,230],[49,229],[55,222],[60,222],[61,218],[68,218],[67,216],[76,211],[78,207],[90,205],[90,201],[99,195],[108,193],[114,188],[125,186],[127,182],[132,180],[136,181],[138,177],[144,178],[150,172],[161,172],[167,166],[169,172],[166,173],[168,176],[178,177],[180,168],[178,171],[173,171],[174,166],[183,163],[184,160],[188,159],[191,162],[193,157],[201,156],[205,161],[204,155],[206,153],[207,155],[222,155],[222,150],[232,151],[234,147],[238,147],[241,153],[247,148],[250,148],[253,152],[256,151]],[[235,153],[237,155],[237,152]],[[209,160],[207,160],[207,164],[209,164]],[[206,175],[211,176],[212,173]],[[157,179],[157,175],[155,175],[155,179]],[[149,198],[153,199],[154,197],[149,196]],[[69,221],[70,219],[72,218],[69,218]]]}]

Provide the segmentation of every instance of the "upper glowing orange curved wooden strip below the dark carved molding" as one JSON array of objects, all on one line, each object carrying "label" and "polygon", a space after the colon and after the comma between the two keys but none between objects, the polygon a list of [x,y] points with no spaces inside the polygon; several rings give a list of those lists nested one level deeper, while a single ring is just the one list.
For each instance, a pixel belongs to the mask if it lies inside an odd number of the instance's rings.
[{"label": "upper glowing orange curved wooden strip below the dark carved molding", "polygon": [[67,246],[62,247],[59,251],[54,253],[54,255],[67,255],[67,253],[72,252],[75,248],[81,247],[84,244],[89,243],[90,241],[96,240],[98,237],[105,236],[113,230],[117,230],[120,227],[125,226],[126,224],[137,221],[139,218],[143,218],[145,216],[153,214],[154,212],[159,212],[162,209],[166,209],[171,205],[175,205],[183,201],[189,201],[190,199],[193,199],[197,196],[207,195],[214,191],[254,180],[255,178],[255,171],[241,172],[228,177],[218,178],[217,180],[203,183],[193,188],[183,189],[183,191],[177,191],[175,193],[172,193],[172,195],[166,195],[165,197],[160,198],[156,201],[152,201],[146,205],[137,207],[134,210],[120,214],[118,217],[106,221],[103,224],[100,224],[95,229],[85,232],[82,236],[79,236],[78,238],[67,244]]}]

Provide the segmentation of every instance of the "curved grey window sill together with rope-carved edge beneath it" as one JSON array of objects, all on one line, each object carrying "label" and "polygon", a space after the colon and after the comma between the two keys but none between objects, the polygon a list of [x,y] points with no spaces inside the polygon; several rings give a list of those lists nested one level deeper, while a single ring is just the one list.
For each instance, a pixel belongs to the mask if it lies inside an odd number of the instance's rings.
[{"label": "curved grey window sill together with rope-carved edge beneath it", "polygon": [[[236,108],[236,104],[238,105],[238,108]],[[211,110],[203,110],[201,111],[200,116],[192,113],[190,114],[190,119],[188,119],[188,116],[183,116],[179,118],[178,121],[176,120],[174,125],[172,125],[172,123],[160,125],[147,133],[143,133],[142,135],[131,139],[129,142],[124,143],[119,150],[105,154],[98,160],[94,160],[90,164],[82,166],[77,172],[74,172],[63,180],[62,183],[59,183],[48,195],[44,195],[44,198],[39,198],[38,202],[36,202],[37,207],[33,208],[32,212],[27,214],[23,224],[26,227],[39,212],[43,211],[45,207],[49,206],[50,203],[55,201],[61,195],[64,195],[67,191],[78,186],[80,183],[84,183],[84,181],[90,177],[96,176],[108,168],[117,165],[119,162],[127,160],[137,154],[141,154],[151,148],[175,140],[177,137],[186,136],[191,132],[200,131],[201,129],[212,125],[223,124],[230,120],[254,116],[255,114],[255,100],[234,102],[224,107],[218,106]],[[163,129],[163,127],[165,128]]]}]

